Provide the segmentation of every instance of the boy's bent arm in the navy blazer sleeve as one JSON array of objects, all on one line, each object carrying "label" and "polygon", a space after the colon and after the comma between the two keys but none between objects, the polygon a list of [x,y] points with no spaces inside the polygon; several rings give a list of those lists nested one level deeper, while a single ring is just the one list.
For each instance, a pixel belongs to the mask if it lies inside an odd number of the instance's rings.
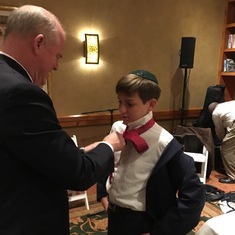
[{"label": "boy's bent arm in the navy blazer sleeve", "polygon": [[173,158],[168,169],[173,184],[178,188],[177,208],[169,211],[172,213],[170,218],[174,222],[178,220],[179,231],[192,229],[199,222],[205,204],[205,189],[196,173],[195,162],[182,153],[179,158]]}]

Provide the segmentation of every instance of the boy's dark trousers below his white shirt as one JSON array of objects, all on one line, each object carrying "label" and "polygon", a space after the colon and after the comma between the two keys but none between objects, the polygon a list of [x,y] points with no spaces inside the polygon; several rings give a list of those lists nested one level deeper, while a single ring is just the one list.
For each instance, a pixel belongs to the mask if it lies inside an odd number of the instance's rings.
[{"label": "boy's dark trousers below his white shirt", "polygon": [[150,229],[151,222],[145,212],[115,213],[108,209],[108,235],[141,235]]}]

